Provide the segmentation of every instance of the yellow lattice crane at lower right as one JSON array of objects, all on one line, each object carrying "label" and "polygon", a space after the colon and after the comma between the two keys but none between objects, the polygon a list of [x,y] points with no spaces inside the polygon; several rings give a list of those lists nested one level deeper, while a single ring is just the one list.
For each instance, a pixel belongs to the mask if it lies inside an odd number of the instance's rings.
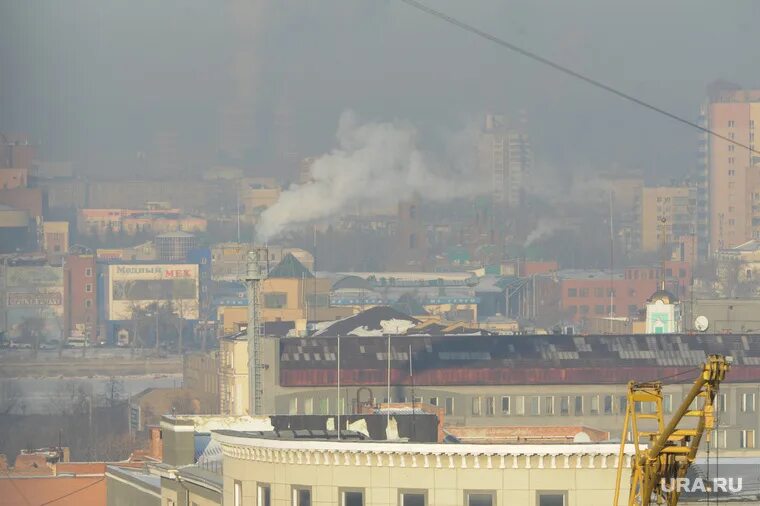
[{"label": "yellow lattice crane at lower right", "polygon": [[[662,382],[628,383],[628,402],[615,480],[615,506],[620,501],[627,440],[635,448],[631,461],[628,506],[678,504],[680,490],[679,487],[672,486],[673,483],[678,483],[672,480],[686,477],[686,471],[694,462],[705,431],[709,441],[715,426],[713,402],[731,361],[731,357],[710,355],[667,425],[663,416]],[[647,407],[649,409],[645,409]],[[666,486],[663,487],[663,484]]]}]

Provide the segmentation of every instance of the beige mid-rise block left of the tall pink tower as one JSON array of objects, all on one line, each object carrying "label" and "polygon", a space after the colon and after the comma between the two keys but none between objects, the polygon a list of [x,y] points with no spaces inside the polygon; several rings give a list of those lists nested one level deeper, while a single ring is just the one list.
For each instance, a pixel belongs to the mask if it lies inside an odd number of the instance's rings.
[{"label": "beige mid-rise block left of the tall pink tower", "polygon": [[640,249],[658,251],[680,244],[694,234],[696,190],[687,186],[641,189],[639,203]]}]

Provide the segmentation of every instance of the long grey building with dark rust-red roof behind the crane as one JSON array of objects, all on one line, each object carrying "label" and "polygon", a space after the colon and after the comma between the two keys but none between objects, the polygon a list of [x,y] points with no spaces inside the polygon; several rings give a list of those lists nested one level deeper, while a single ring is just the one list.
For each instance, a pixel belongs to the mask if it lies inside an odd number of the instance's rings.
[{"label": "long grey building with dark rust-red roof behind the crane", "polygon": [[[614,434],[629,381],[690,380],[708,354],[723,353],[734,366],[719,394],[714,444],[742,452],[755,448],[760,430],[758,350],[758,334],[263,338],[262,401],[266,413],[335,412],[340,369],[342,409],[356,412],[388,400],[390,371],[392,402],[440,406],[447,424],[585,425]],[[664,386],[666,413],[688,388]]]}]

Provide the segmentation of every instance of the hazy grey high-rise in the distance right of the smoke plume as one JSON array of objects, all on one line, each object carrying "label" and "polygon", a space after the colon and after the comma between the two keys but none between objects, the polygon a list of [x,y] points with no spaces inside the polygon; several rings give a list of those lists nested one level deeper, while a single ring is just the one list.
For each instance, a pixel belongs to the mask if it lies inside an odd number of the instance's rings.
[{"label": "hazy grey high-rise in the distance right of the smoke plume", "polygon": [[508,125],[502,115],[487,114],[478,158],[481,174],[491,179],[494,202],[518,206],[533,167],[533,151],[525,132]]}]

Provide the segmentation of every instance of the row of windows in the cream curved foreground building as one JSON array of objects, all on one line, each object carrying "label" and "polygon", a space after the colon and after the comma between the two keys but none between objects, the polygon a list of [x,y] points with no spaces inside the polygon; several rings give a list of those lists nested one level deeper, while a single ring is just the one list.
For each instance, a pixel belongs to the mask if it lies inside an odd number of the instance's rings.
[{"label": "row of windows in the cream curved foreground building", "polygon": [[[338,489],[340,506],[364,506],[365,491],[361,488]],[[272,486],[268,483],[256,485],[255,506],[272,505]],[[494,506],[496,504],[496,491],[494,490],[466,490],[464,492],[464,506]],[[233,491],[234,506],[244,505],[243,483],[235,481]],[[291,487],[291,506],[311,506],[312,490],[308,486],[293,485]],[[398,490],[399,506],[428,506],[428,491],[425,489],[400,489]],[[536,506],[566,506],[567,492],[565,491],[538,491],[536,492]],[[253,505],[252,505],[253,506]]]}]

